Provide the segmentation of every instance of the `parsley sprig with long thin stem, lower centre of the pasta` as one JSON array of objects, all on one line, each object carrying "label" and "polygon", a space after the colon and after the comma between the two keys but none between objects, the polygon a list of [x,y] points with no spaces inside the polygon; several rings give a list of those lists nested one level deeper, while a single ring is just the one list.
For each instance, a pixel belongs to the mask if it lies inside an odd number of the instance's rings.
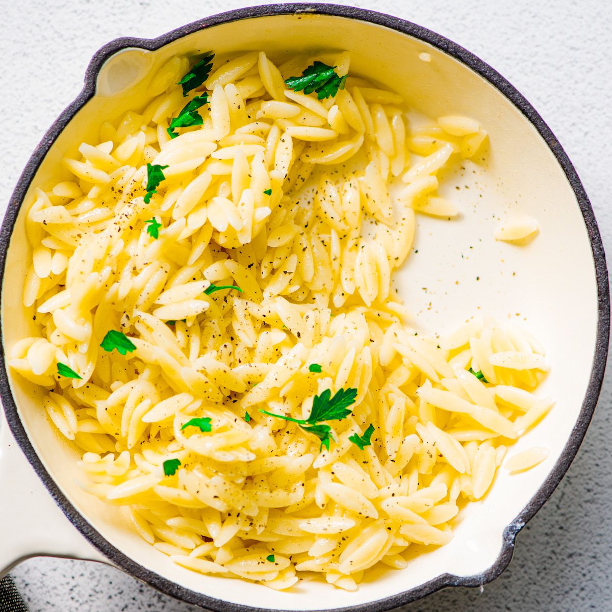
[{"label": "parsley sprig with long thin stem, lower centre of the pasta", "polygon": [[349,416],[353,411],[349,410],[348,406],[353,404],[356,398],[357,389],[338,389],[334,397],[332,397],[332,392],[326,389],[321,395],[315,395],[308,419],[294,419],[284,414],[276,414],[275,412],[268,412],[263,409],[260,409],[259,412],[263,412],[263,414],[267,414],[271,417],[276,417],[277,419],[284,419],[292,423],[297,423],[304,431],[314,434],[321,440],[321,447],[319,450],[323,450],[323,447],[329,450],[330,440],[335,441],[334,436],[330,433],[332,428],[321,421],[340,420]]}]

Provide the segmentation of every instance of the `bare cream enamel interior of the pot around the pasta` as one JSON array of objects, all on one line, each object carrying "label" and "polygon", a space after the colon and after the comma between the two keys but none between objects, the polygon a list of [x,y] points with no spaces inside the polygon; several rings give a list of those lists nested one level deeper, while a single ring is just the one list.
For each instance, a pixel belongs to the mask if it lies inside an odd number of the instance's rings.
[{"label": "bare cream enamel interior of the pot around the pasta", "polygon": [[[34,184],[50,185],[62,155],[93,138],[102,121],[113,121],[127,108],[138,108],[152,73],[173,54],[254,49],[289,54],[329,48],[330,41],[351,52],[353,73],[397,90],[417,111],[434,118],[466,114],[488,130],[486,161],[463,163],[463,170],[450,173],[445,182],[447,193],[442,195],[458,204],[460,218],[449,222],[419,215],[414,245],[418,253],[401,270],[397,286],[417,324],[430,332],[447,332],[469,316],[484,313],[516,319],[539,338],[551,365],[539,392],[553,396],[557,403],[510,455],[545,446],[550,449],[548,459],[516,476],[502,469],[484,501],[469,504],[455,539],[417,556],[406,570],[370,574],[356,592],[318,581],[302,581],[290,592],[276,592],[246,581],[202,576],[173,564],[122,522],[113,507],[81,491],[75,483],[77,452],[48,423],[40,390],[9,372],[32,446],[65,496],[108,542],[138,564],[188,589],[268,610],[358,605],[415,588],[442,573],[467,576],[487,570],[498,557],[504,528],[545,481],[569,438],[583,403],[595,348],[597,285],[591,246],[572,188],[547,144],[504,95],[466,65],[382,26],[324,15],[277,15],[206,28],[154,52],[119,53],[103,67],[98,94],[51,147]],[[424,52],[431,61],[419,58]],[[496,242],[493,230],[499,220],[516,211],[537,219],[539,235],[522,247]],[[22,209],[2,287],[8,350],[28,335],[34,315],[21,305],[27,248]]]}]

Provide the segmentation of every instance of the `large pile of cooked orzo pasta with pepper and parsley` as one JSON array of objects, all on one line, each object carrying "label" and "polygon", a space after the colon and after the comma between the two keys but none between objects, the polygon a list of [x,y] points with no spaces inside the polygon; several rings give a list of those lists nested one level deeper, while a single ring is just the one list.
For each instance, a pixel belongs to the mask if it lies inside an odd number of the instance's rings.
[{"label": "large pile of cooked orzo pasta with pepper and parsley", "polygon": [[[412,125],[399,95],[343,78],[347,53],[204,60],[168,61],[145,108],[36,191],[38,332],[10,365],[46,389],[83,487],[177,564],[355,589],[449,542],[552,404],[526,332],[424,337],[391,288],[415,213],[457,214],[436,174],[487,133]],[[288,88],[315,69],[331,95]]]}]

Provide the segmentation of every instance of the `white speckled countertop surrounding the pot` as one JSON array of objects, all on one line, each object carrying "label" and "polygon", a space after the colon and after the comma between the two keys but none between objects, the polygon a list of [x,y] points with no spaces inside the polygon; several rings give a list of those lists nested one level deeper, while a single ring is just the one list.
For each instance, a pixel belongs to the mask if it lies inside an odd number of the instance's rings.
[{"label": "white speckled countertop surrounding the pot", "polygon": [[[32,149],[78,94],[94,51],[154,37],[248,0],[1,0],[0,200]],[[354,0],[460,43],[535,106],[577,167],[612,252],[612,4],[606,0]],[[550,501],[518,537],[510,567],[479,589],[447,589],[406,611],[612,610],[612,371],[583,447]],[[0,503],[2,501],[0,500]],[[0,542],[1,545],[1,542]],[[12,577],[31,612],[195,611],[101,564],[30,559]],[[199,609],[199,608],[198,608]]]}]

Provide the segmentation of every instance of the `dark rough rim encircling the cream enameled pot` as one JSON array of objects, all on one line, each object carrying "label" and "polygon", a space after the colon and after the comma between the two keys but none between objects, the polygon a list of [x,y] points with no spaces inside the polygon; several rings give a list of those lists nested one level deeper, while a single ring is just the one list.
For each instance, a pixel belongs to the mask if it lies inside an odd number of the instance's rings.
[{"label": "dark rough rim encircling the cream enameled pot", "polygon": [[[575,427],[570,434],[567,444],[564,447],[559,460],[550,472],[547,480],[542,484],[537,493],[528,502],[517,517],[506,527],[503,534],[503,542],[498,559],[485,572],[469,576],[458,577],[451,574],[440,575],[433,580],[428,581],[416,588],[400,594],[384,597],[383,599],[373,602],[363,603],[345,608],[334,608],[334,612],[383,612],[391,610],[397,606],[405,605],[413,602],[425,595],[438,591],[438,589],[447,586],[480,586],[488,583],[506,569],[512,558],[515,538],[523,526],[534,516],[537,510],[542,507],[545,501],[551,496],[554,489],[559,484],[559,481],[564,476],[565,472],[572,463],[573,458],[578,452],[578,448],[584,438],[586,429],[591,421],[592,414],[597,403],[599,391],[603,382],[603,374],[606,364],[606,356],[608,353],[608,337],[610,333],[610,293],[608,291],[608,272],[606,269],[605,253],[603,245],[595,222],[595,217],[589,203],[589,199],[584,192],[583,185],[578,178],[578,174],[573,168],[567,154],[559,144],[559,141],[554,136],[548,125],[542,120],[540,115],[535,111],[533,106],[496,70],[493,70],[489,65],[477,58],[474,54],[465,50],[460,45],[452,42],[444,36],[436,34],[431,30],[423,28],[417,24],[411,23],[371,10],[357,9],[355,7],[340,6],[335,4],[271,4],[265,6],[248,7],[245,9],[231,10],[225,13],[219,13],[212,17],[207,17],[199,21],[177,28],[172,32],[163,34],[155,39],[138,39],[138,38],[120,38],[113,40],[102,47],[93,56],[88,69],[86,70],[84,87],[76,99],[62,112],[62,114],[51,125],[51,128],[43,136],[42,141],[36,147],[28,164],[24,168],[23,173],[15,187],[15,191],[11,196],[7,209],[2,229],[0,230],[0,283],[4,279],[4,271],[6,266],[6,255],[9,247],[10,237],[12,234],[15,220],[21,207],[29,185],[37,172],[40,163],[45,158],[45,155],[53,145],[56,138],[69,124],[75,114],[88,102],[95,92],[95,81],[97,74],[104,62],[114,53],[129,48],[142,48],[154,51],[164,45],[173,42],[185,35],[192,34],[204,28],[210,28],[230,21],[238,21],[243,19],[251,19],[256,17],[267,17],[270,15],[286,15],[294,13],[309,13],[318,15],[330,15],[334,17],[345,17],[348,19],[366,21],[368,23],[385,26],[386,28],[410,35],[416,39],[433,45],[444,53],[449,54],[453,58],[467,65],[471,70],[485,78],[498,91],[500,91],[510,102],[515,105],[521,113],[534,125],[535,129],[540,133],[543,140],[548,144],[559,165],[563,169],[567,180],[572,186],[578,201],[578,206],[582,212],[584,223],[588,231],[589,240],[591,242],[592,255],[594,259],[595,274],[597,277],[597,289],[599,298],[599,312],[597,322],[597,339],[595,344],[595,354],[591,369],[591,377],[589,386],[584,397],[584,402],[578,416]],[[135,578],[146,582],[159,591],[163,591],[168,595],[172,595],[177,599],[181,599],[188,603],[200,605],[215,612],[260,612],[263,608],[254,606],[237,605],[235,603],[225,602],[223,600],[213,599],[207,595],[201,594],[191,589],[184,588],[171,580],[163,578],[151,570],[147,570],[142,565],[137,564],[124,553],[113,547],[91,524],[75,509],[74,506],[65,498],[64,494],[59,490],[58,485],[54,482],[47,470],[43,467],[40,458],[36,454],[31,442],[26,435],[23,424],[17,412],[17,406],[13,400],[12,392],[9,386],[9,378],[6,370],[6,362],[4,356],[4,334],[2,334],[2,346],[0,346],[0,397],[6,412],[7,422],[15,436],[18,444],[25,453],[29,462],[34,467],[38,476],[47,487],[48,491],[53,496],[58,506],[64,514],[69,518],[73,525],[81,532],[81,534],[89,540],[89,542],[97,548],[106,558],[113,564],[129,573]],[[326,611],[318,611],[326,612]],[[332,612],[327,611],[327,612]]]}]

